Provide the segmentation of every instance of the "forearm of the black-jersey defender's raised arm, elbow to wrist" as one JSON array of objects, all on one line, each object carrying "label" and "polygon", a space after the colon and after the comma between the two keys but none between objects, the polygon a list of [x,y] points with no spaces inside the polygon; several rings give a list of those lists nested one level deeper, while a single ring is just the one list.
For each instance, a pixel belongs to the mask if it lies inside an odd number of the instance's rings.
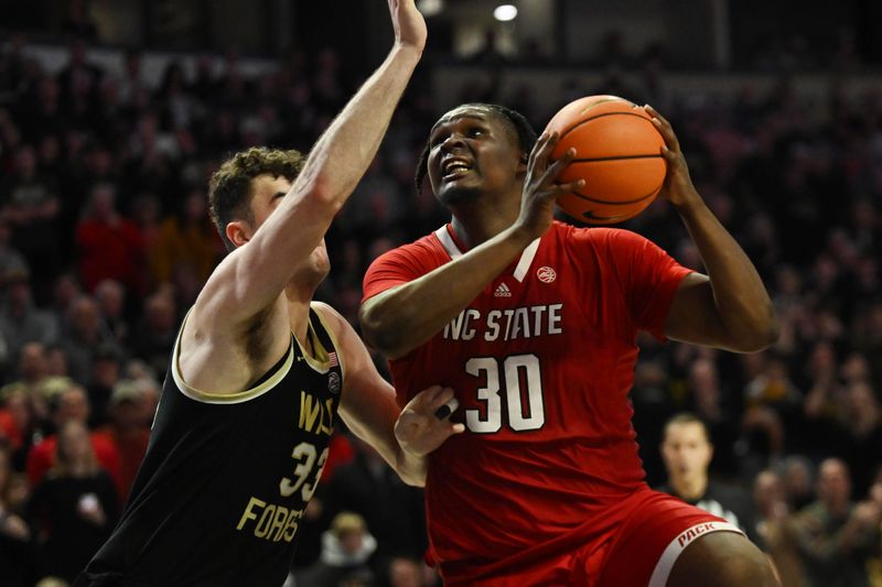
[{"label": "forearm of the black-jersey defender's raised arm, elbow to wrist", "polygon": [[374,160],[420,55],[412,46],[392,48],[313,146],[298,183],[343,205]]}]

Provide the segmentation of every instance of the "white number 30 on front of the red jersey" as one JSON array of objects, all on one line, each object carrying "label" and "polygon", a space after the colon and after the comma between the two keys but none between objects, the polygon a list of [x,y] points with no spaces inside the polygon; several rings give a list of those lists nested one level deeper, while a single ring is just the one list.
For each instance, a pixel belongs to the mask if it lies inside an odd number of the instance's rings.
[{"label": "white number 30 on front of the red jersey", "polygon": [[477,434],[493,434],[503,427],[503,398],[508,422],[515,432],[539,430],[545,424],[542,376],[539,357],[513,355],[504,360],[475,357],[465,363],[465,372],[480,378],[477,399],[483,409],[465,411],[465,426]]}]

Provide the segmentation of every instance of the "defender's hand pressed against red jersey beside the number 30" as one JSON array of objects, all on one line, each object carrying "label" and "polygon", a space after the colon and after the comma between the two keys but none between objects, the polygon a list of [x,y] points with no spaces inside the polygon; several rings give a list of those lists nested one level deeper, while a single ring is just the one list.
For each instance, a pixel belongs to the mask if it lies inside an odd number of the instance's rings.
[{"label": "defender's hand pressed against red jersey beside the number 30", "polygon": [[[450,413],[444,415],[444,405],[453,400],[453,390],[432,385],[419,392],[401,410],[395,423],[395,437],[401,448],[411,455],[428,455],[454,434],[465,431],[463,424],[450,421]],[[442,410],[442,417],[435,415]]]}]

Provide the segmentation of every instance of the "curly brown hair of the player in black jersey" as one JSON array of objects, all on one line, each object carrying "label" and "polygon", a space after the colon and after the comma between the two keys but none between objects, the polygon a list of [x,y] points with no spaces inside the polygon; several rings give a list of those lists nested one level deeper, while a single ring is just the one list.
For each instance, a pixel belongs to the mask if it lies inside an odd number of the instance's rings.
[{"label": "curly brown hair of the player in black jersey", "polygon": [[300,151],[252,146],[226,160],[212,174],[208,183],[212,221],[227,250],[236,248],[227,238],[227,224],[233,220],[254,221],[250,206],[254,195],[251,180],[258,175],[272,175],[293,182],[303,169],[305,159]]}]

